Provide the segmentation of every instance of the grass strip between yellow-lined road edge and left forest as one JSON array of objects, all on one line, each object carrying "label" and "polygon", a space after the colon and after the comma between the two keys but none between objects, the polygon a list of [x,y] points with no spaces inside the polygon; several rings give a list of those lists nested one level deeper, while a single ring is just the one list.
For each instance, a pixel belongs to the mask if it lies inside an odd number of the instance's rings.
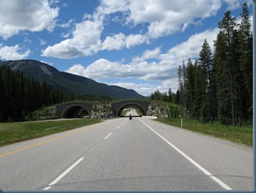
[{"label": "grass strip between yellow-lined road edge and left forest", "polygon": [[0,123],[0,147],[99,122],[99,119],[77,119]]}]

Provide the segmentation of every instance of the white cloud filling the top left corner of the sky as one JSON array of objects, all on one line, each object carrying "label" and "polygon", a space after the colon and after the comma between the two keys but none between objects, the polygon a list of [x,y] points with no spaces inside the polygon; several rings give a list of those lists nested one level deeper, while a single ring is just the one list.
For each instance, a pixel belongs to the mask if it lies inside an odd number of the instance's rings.
[{"label": "white cloud filling the top left corner of the sky", "polygon": [[58,11],[47,0],[0,0],[0,36],[6,40],[19,31],[52,31]]}]

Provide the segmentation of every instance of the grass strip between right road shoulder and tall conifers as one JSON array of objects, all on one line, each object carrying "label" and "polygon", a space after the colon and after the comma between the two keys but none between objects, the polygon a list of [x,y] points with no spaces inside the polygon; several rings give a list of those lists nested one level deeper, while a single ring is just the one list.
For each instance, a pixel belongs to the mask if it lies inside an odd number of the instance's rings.
[{"label": "grass strip between right road shoulder and tall conifers", "polygon": [[[170,124],[175,127],[181,126],[180,119],[157,119],[157,121]],[[215,136],[221,139],[225,139],[228,141],[233,141],[238,144],[253,146],[253,127],[252,126],[244,126],[244,127],[233,127],[233,126],[225,126],[221,124],[202,124],[199,122],[189,122],[183,121],[183,128],[190,130],[192,132],[199,132],[208,136]]]}]

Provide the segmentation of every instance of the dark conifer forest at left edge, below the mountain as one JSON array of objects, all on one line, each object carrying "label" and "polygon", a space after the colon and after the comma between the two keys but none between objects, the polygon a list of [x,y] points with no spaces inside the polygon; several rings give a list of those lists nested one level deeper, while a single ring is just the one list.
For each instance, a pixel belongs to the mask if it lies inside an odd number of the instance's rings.
[{"label": "dark conifer forest at left edge, below the mountain", "polygon": [[6,65],[0,65],[0,93],[0,122],[24,120],[40,107],[61,103],[65,95]]}]

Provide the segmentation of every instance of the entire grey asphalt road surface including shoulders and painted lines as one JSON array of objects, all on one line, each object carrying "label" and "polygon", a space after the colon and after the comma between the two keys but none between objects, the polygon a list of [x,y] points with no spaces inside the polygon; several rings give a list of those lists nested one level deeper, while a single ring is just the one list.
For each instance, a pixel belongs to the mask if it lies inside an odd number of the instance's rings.
[{"label": "entire grey asphalt road surface including shoulders and painted lines", "polygon": [[0,148],[0,189],[253,190],[253,159],[243,145],[126,117]]}]

